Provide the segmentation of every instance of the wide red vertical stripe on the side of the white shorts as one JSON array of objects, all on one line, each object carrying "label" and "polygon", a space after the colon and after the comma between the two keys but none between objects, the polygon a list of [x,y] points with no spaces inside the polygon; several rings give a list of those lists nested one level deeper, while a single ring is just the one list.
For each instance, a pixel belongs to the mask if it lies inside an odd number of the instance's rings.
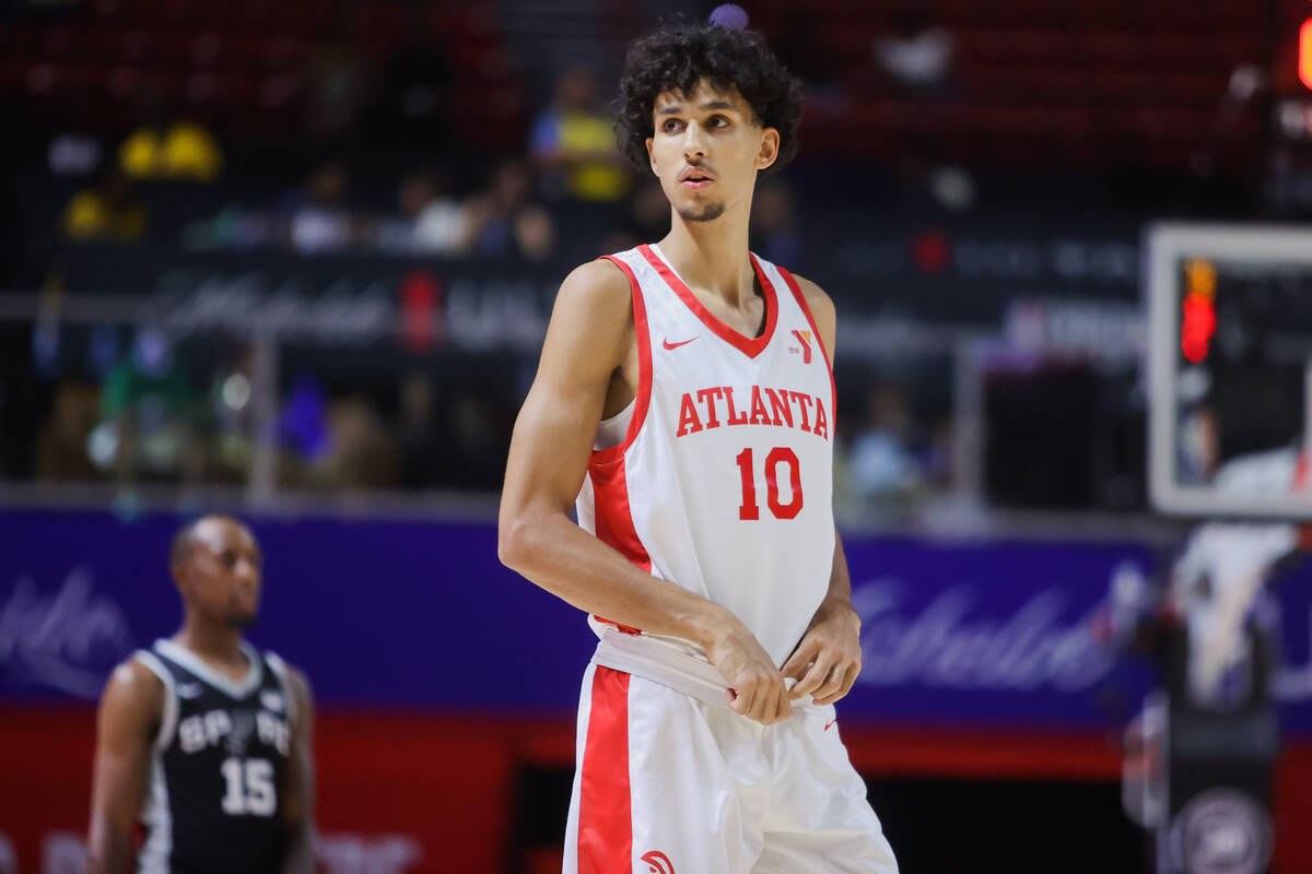
[{"label": "wide red vertical stripe on the side of the white shorts", "polygon": [[597,666],[579,774],[579,871],[627,871],[634,849],[628,788],[628,675]]}]

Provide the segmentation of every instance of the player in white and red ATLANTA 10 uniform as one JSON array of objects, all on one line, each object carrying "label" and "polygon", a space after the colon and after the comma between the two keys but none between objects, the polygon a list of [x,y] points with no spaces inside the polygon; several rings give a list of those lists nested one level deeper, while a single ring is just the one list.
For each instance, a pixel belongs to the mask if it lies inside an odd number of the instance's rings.
[{"label": "player in white and red ATLANTA 10 uniform", "polygon": [[748,252],[800,100],[748,31],[669,26],[626,60],[621,148],[672,228],[562,284],[500,515],[501,560],[600,636],[565,871],[897,870],[834,727],[861,670],[834,308]]}]

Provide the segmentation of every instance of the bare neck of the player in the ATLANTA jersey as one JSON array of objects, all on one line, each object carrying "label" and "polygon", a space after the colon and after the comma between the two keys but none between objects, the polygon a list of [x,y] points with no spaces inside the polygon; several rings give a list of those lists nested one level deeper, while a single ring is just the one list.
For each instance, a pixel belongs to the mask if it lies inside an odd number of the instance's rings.
[{"label": "bare neck of the player in the ATLANTA jersey", "polygon": [[693,291],[723,297],[743,307],[756,296],[756,274],[748,258],[748,214],[727,210],[714,221],[687,221],[673,214],[669,235],[660,249]]}]

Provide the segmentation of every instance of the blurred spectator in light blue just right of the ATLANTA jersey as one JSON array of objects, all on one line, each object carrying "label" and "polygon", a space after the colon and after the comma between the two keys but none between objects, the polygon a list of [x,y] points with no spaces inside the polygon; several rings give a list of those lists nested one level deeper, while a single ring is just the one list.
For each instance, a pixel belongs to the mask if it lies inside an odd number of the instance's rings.
[{"label": "blurred spectator in light blue just right of the ATLANTA jersey", "polygon": [[851,447],[857,490],[867,502],[907,498],[921,485],[921,465],[911,451],[912,421],[900,385],[870,392],[866,427]]}]

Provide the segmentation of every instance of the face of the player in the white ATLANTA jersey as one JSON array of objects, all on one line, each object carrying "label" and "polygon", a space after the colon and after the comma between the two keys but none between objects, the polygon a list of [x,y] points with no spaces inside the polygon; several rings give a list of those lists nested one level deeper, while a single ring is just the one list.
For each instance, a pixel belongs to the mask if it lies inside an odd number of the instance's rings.
[{"label": "face of the player in the white ATLANTA jersey", "polygon": [[685,221],[714,221],[750,207],[757,172],[779,152],[779,132],[761,127],[736,88],[719,90],[705,80],[691,94],[660,94],[652,121],[652,172]]}]

